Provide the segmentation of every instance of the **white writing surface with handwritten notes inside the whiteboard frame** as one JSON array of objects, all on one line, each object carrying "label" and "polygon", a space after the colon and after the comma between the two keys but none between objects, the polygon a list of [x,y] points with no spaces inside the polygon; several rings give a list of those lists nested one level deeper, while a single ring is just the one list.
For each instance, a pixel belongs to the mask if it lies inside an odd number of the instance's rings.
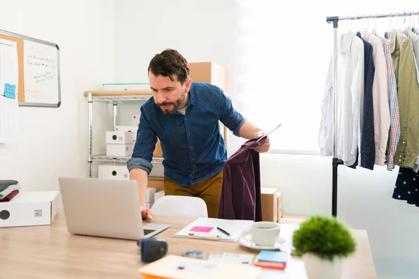
[{"label": "white writing surface with handwritten notes inside the whiteboard frame", "polygon": [[26,103],[59,102],[57,49],[24,41],[24,98]]}]

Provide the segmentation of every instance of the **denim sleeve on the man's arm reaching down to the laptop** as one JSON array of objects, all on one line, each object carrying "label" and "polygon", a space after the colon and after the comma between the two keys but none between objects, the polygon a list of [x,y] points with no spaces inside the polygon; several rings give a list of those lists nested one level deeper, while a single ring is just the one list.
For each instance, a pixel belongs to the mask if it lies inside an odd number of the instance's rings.
[{"label": "denim sleeve on the man's arm reaching down to the laptop", "polygon": [[126,165],[130,172],[131,169],[144,169],[149,174],[153,169],[152,158],[156,148],[157,136],[149,123],[149,119],[147,119],[144,107],[141,107],[140,112],[140,123],[138,124],[133,155]]}]

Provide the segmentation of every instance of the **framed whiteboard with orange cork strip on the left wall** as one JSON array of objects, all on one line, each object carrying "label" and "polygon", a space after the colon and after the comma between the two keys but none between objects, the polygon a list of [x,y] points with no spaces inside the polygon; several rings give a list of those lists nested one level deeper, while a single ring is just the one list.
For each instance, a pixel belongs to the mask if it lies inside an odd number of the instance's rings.
[{"label": "framed whiteboard with orange cork strip on the left wall", "polygon": [[0,39],[17,45],[19,78],[16,91],[19,105],[59,107],[61,86],[58,45],[3,30],[0,30]]}]

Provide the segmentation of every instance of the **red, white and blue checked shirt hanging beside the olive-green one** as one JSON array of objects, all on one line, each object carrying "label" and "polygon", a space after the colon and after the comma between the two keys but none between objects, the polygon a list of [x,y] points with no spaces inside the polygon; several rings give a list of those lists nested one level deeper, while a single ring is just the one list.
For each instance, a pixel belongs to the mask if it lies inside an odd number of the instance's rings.
[{"label": "red, white and blue checked shirt hanging beside the olive-green one", "polygon": [[395,168],[395,153],[397,143],[400,137],[400,123],[399,123],[399,101],[397,97],[397,86],[395,69],[393,68],[392,59],[390,55],[390,46],[388,40],[379,36],[376,31],[372,32],[375,36],[381,39],[383,44],[384,56],[387,61],[388,71],[388,98],[390,100],[390,133],[388,135],[388,162],[387,169],[392,170]]}]

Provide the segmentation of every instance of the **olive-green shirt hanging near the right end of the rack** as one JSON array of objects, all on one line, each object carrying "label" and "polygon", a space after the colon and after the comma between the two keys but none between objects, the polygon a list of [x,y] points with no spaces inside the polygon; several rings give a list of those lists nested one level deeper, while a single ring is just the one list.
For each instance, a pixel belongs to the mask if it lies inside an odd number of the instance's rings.
[{"label": "olive-green shirt hanging near the right end of the rack", "polygon": [[400,139],[395,163],[413,167],[419,151],[419,86],[411,40],[397,30],[392,30],[390,52],[397,82],[400,112]]}]

